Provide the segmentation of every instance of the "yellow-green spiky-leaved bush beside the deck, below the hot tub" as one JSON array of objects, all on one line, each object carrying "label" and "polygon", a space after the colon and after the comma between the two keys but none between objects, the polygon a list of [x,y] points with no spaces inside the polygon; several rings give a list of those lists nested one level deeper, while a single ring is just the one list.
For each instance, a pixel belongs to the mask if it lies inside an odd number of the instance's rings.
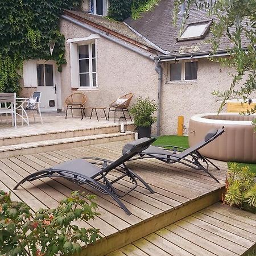
[{"label": "yellow-green spiky-leaved bush beside the deck, below the hot tub", "polygon": [[226,204],[256,213],[256,183],[249,167],[230,163],[224,200]]}]

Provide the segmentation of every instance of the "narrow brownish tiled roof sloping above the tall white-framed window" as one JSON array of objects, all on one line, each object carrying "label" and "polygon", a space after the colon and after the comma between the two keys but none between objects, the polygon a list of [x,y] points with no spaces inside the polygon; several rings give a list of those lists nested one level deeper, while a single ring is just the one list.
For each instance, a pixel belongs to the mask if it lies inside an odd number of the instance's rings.
[{"label": "narrow brownish tiled roof sloping above the tall white-framed window", "polygon": [[79,19],[80,22],[89,23],[91,26],[105,30],[119,38],[126,39],[128,42],[134,42],[137,46],[141,45],[142,48],[156,53],[157,49],[152,44],[147,43],[146,40],[137,35],[122,22],[117,22],[99,15],[82,13],[81,11],[65,10],[64,15],[70,15],[72,18]]}]

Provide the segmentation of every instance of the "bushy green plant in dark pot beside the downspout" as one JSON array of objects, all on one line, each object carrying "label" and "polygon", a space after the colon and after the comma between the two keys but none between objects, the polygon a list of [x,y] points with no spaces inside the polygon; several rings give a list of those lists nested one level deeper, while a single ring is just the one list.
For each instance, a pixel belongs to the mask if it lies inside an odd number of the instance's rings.
[{"label": "bushy green plant in dark pot beside the downspout", "polygon": [[150,98],[137,98],[137,102],[131,106],[131,114],[134,115],[134,124],[138,129],[139,138],[151,137],[151,125],[156,122],[152,114],[158,109],[154,100]]}]

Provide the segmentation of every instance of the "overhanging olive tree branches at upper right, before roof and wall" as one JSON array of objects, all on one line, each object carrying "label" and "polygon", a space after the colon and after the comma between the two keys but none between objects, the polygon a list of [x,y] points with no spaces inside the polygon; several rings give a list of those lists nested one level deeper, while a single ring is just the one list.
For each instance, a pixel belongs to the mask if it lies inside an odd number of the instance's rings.
[{"label": "overhanging olive tree branches at upper right, before roof and wall", "polygon": [[[177,19],[179,6],[185,2],[183,25],[193,7],[207,9],[214,15],[212,32],[213,53],[217,51],[221,38],[228,40],[230,47],[228,58],[213,59],[224,65],[233,67],[236,73],[232,84],[224,92],[214,91],[213,94],[222,98],[221,111],[229,98],[243,97],[244,101],[256,90],[256,1],[255,0],[175,0],[174,23]],[[254,11],[253,11],[254,10]],[[242,82],[245,79],[245,82]],[[243,80],[244,81],[244,80]],[[242,83],[242,84],[241,84]],[[256,108],[251,109],[254,113]]]}]

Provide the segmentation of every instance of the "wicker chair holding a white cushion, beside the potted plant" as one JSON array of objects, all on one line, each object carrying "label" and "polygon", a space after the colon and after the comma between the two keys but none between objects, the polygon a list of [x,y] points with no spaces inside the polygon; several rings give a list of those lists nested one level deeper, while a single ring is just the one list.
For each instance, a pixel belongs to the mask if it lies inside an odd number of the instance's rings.
[{"label": "wicker chair holding a white cushion, beside the potted plant", "polygon": [[[133,93],[128,93],[118,98],[117,100],[112,102],[112,104],[109,105],[109,113],[110,111],[114,111],[114,122],[115,122],[115,112],[123,112],[124,117],[125,117],[125,112],[127,112],[131,119],[131,115],[128,110],[128,107],[131,102],[131,98],[133,98]],[[108,113],[108,120],[109,120],[109,113]],[[133,120],[131,119],[131,121]]]}]

